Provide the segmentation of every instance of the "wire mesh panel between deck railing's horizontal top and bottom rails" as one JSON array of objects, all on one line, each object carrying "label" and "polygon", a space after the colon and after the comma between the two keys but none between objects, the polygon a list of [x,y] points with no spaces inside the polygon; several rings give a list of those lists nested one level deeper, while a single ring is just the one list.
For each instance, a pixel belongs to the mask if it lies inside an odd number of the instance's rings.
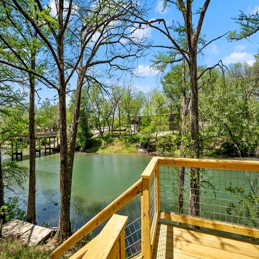
[{"label": "wire mesh panel between deck railing's horizontal top and bottom rails", "polygon": [[[161,211],[178,212],[180,167],[160,166]],[[259,228],[259,172],[200,169],[199,211],[204,219]],[[185,168],[182,213],[188,215],[190,168]]]}]

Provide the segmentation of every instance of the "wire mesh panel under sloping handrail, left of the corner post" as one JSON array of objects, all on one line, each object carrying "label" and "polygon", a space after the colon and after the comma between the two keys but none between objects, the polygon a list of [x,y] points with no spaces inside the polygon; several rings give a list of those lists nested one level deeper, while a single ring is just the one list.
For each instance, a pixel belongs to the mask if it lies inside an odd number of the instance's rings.
[{"label": "wire mesh panel under sloping handrail, left of the corner post", "polygon": [[141,252],[141,195],[139,194],[116,212],[128,217],[125,226],[125,258]]}]

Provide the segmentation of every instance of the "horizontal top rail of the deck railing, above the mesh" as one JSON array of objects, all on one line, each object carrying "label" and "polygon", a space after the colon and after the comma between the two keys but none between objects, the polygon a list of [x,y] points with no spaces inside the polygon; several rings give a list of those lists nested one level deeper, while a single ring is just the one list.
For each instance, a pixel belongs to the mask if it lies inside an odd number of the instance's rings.
[{"label": "horizontal top rail of the deck railing, above the mesh", "polygon": [[[259,161],[158,157],[158,165],[259,171]],[[152,161],[152,160],[151,160]]]}]

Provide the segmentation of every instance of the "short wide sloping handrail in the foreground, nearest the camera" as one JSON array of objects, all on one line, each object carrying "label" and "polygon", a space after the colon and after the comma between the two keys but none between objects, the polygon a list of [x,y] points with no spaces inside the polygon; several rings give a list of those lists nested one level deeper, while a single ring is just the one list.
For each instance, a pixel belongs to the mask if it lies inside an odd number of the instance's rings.
[{"label": "short wide sloping handrail in the foreground, nearest the camera", "polygon": [[[128,218],[122,215],[114,214],[109,222],[105,225],[101,233],[93,239],[87,252],[83,255],[83,259],[115,259],[119,254],[119,247],[124,241],[124,227]],[[123,241],[122,241],[123,239]],[[123,250],[125,258],[125,253]],[[123,258],[123,257],[119,257]]]}]

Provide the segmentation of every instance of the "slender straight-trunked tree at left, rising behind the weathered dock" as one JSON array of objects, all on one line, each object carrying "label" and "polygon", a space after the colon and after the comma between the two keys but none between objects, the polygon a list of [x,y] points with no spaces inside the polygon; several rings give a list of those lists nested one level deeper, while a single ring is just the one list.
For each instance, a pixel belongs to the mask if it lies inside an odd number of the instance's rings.
[{"label": "slender straight-trunked tree at left, rising behind the weathered dock", "polygon": [[[29,194],[27,207],[27,222],[36,223],[36,179],[35,179],[35,75],[31,71],[36,70],[36,53],[40,49],[40,41],[37,32],[23,16],[16,12],[9,4],[2,1],[1,5],[1,32],[3,64],[12,64],[13,67],[22,67],[25,78],[29,84]],[[37,12],[34,5],[34,12]],[[33,18],[37,23],[37,15]],[[8,51],[7,51],[8,50]]]}]

